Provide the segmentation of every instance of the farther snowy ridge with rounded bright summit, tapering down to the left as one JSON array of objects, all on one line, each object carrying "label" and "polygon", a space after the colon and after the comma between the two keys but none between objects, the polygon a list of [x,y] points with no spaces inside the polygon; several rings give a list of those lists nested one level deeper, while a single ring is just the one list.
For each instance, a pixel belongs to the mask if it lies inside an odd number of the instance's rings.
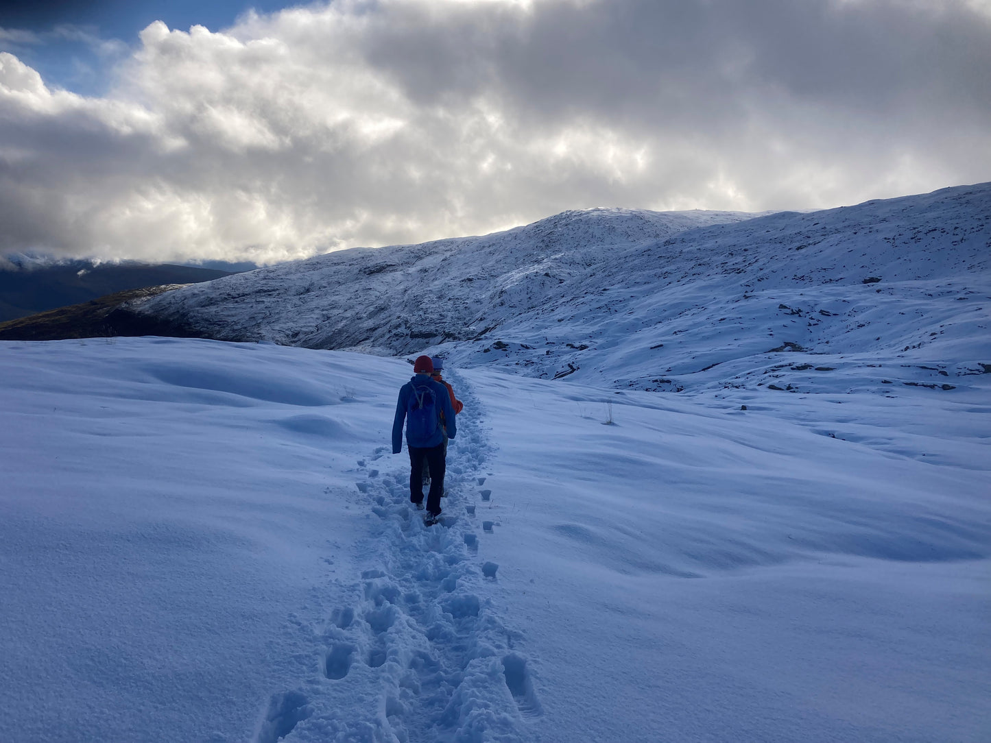
[{"label": "farther snowy ridge with rounded bright summit, tapering down to the left", "polygon": [[[412,353],[486,339],[560,284],[630,246],[752,217],[742,212],[569,211],[507,232],[354,249],[189,286],[142,307],[219,340]],[[489,313],[486,315],[485,313]]]}]

